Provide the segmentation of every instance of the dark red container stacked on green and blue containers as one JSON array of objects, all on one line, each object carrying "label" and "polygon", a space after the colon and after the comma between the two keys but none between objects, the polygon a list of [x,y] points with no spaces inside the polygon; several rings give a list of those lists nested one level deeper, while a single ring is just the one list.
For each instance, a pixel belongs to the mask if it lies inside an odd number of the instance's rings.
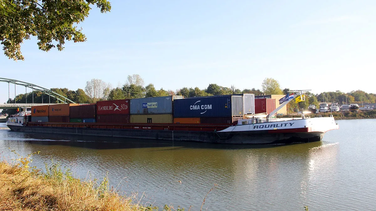
[{"label": "dark red container stacked on green and blue containers", "polygon": [[96,104],[69,107],[70,122],[96,122]]}]

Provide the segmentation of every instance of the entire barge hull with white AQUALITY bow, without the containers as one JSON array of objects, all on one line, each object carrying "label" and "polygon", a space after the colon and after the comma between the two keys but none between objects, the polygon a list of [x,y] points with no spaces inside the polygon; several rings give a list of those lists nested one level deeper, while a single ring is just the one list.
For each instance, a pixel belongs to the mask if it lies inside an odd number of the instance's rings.
[{"label": "entire barge hull with white AQUALITY bow, without the containers", "polygon": [[[325,118],[320,119],[324,120]],[[331,127],[327,127],[326,129],[315,129],[308,127],[309,122],[307,122],[306,119],[281,122],[283,123],[274,122],[273,124],[273,122],[270,122],[269,124],[271,124],[272,127],[277,128],[268,127],[265,129],[263,127],[261,128],[261,126],[267,125],[265,123],[236,126],[171,124],[157,126],[150,125],[150,127],[148,127],[148,125],[83,125],[48,122],[31,123],[31,125],[30,123],[27,125],[8,124],[8,127],[12,131],[26,133],[70,134],[79,136],[121,137],[230,144],[287,144],[314,142],[320,141],[327,130],[338,129],[338,125],[331,125]],[[334,119],[332,122],[334,122]],[[289,127],[290,125],[294,125],[294,127]],[[153,129],[153,127],[159,127],[159,129]],[[253,130],[253,128],[255,129]],[[124,141],[126,141],[126,139],[124,139]]]}]

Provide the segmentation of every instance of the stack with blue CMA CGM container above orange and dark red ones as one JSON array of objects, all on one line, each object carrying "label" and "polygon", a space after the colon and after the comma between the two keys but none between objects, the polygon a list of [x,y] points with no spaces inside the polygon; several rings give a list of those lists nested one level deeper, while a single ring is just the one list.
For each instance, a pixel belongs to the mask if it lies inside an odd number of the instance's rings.
[{"label": "stack with blue CMA CGM container above orange and dark red ones", "polygon": [[[174,123],[233,124],[244,114],[255,112],[253,94],[219,95],[177,99],[174,101]],[[200,122],[197,121],[200,118]]]}]

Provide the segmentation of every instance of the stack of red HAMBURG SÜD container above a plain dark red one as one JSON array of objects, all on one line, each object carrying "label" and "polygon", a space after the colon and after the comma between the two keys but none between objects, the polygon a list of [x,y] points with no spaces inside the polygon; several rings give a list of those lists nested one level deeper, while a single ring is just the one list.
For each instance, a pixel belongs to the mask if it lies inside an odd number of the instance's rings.
[{"label": "stack of red HAMBURG S\u00dcD container above a plain dark red one", "polygon": [[129,99],[97,101],[99,123],[129,123]]}]

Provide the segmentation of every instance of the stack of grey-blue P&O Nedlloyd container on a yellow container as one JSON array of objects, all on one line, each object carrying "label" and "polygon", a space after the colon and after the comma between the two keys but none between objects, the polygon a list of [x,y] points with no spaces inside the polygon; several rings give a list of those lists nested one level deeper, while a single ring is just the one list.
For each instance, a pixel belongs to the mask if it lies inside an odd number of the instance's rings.
[{"label": "stack of grey-blue P&O Nedlloyd container on a yellow container", "polygon": [[130,99],[130,123],[173,123],[173,101],[183,96]]}]

